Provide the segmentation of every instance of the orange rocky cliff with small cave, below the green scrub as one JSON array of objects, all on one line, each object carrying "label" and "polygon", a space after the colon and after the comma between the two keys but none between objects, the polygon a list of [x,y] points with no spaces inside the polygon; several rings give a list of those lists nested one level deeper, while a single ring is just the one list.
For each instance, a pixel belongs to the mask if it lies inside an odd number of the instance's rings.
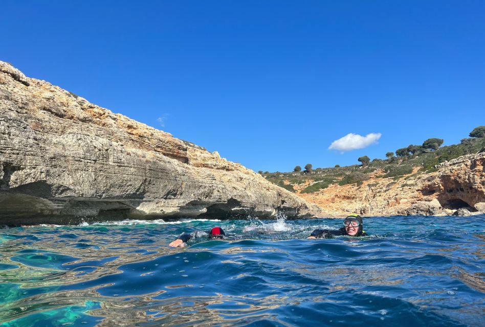
[{"label": "orange rocky cliff with small cave, below the green scrub", "polygon": [[332,184],[300,195],[332,216],[467,215],[467,211],[485,212],[484,167],[485,153],[464,155],[440,164],[434,173],[416,169],[394,180],[377,178],[383,175],[377,171],[360,186]]}]

